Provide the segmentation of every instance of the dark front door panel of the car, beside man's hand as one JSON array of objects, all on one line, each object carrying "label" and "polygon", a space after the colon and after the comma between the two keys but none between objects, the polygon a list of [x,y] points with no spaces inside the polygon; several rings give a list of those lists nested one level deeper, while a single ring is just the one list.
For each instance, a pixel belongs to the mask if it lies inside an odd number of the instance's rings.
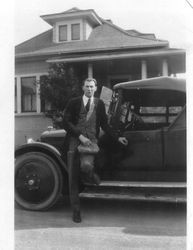
[{"label": "dark front door panel of the car, beside man's hand", "polygon": [[126,131],[128,146],[123,151],[120,168],[159,170],[163,167],[162,130]]}]

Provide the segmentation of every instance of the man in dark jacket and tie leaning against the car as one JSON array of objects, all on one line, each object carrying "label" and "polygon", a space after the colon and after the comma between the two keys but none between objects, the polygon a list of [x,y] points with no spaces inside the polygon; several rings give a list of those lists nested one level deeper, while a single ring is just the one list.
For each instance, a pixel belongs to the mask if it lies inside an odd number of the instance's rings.
[{"label": "man in dark jacket and tie leaning against the car", "polygon": [[79,144],[90,146],[97,143],[100,127],[103,131],[123,145],[127,145],[125,137],[117,137],[107,123],[107,115],[102,100],[95,98],[97,81],[94,78],[87,78],[82,86],[84,95],[69,101],[64,112],[64,129],[69,138],[68,168],[69,168],[69,192],[73,209],[73,221],[81,222],[80,200],[79,200],[79,176],[81,172],[89,175],[92,182],[100,183],[100,179],[94,173],[94,156],[87,161],[78,162],[77,147]]}]

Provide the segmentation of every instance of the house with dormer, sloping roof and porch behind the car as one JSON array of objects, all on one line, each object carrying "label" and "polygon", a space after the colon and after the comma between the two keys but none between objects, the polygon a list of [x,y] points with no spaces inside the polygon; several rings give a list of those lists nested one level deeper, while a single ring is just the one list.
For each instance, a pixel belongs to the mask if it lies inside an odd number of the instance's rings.
[{"label": "house with dormer, sloping roof and porch behind the car", "polygon": [[16,46],[15,144],[37,139],[51,120],[42,113],[39,87],[51,63],[77,69],[80,79],[94,77],[104,86],[122,81],[185,72],[185,51],[170,48],[154,34],[124,30],[93,9],[72,8],[43,15],[51,29]]}]

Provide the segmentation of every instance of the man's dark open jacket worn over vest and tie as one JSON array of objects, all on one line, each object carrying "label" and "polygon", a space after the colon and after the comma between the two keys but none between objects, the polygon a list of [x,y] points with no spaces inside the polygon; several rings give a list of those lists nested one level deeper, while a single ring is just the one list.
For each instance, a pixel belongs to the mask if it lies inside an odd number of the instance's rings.
[{"label": "man's dark open jacket worn over vest and tie", "polygon": [[[104,102],[98,98],[96,107],[96,138],[99,136],[100,127],[102,130],[114,139],[118,139],[115,133],[112,131],[108,125],[107,115],[105,112]],[[73,98],[67,104],[64,111],[63,126],[67,131],[68,135],[73,137],[79,137],[81,131],[76,127],[79,120],[80,108],[82,105],[82,96]]]}]

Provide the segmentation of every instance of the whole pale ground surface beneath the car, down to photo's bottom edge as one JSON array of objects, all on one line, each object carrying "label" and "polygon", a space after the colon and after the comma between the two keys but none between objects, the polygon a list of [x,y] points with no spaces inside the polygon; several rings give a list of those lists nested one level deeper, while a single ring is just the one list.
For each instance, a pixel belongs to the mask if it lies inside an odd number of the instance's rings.
[{"label": "whole pale ground surface beneath the car, down to photo's bottom edge", "polygon": [[82,223],[68,201],[49,211],[15,208],[15,250],[186,249],[183,204],[82,199]]}]

